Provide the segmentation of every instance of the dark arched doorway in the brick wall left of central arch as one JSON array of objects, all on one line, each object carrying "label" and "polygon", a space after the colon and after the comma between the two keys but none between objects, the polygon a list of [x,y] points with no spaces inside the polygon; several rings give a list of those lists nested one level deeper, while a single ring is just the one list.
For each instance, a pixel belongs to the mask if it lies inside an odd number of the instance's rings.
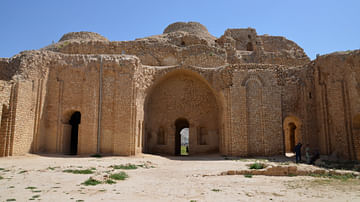
[{"label": "dark arched doorway in the brick wall left of central arch", "polygon": [[69,110],[64,113],[62,118],[62,153],[76,155],[78,151],[79,125],[81,123],[81,113]]}]

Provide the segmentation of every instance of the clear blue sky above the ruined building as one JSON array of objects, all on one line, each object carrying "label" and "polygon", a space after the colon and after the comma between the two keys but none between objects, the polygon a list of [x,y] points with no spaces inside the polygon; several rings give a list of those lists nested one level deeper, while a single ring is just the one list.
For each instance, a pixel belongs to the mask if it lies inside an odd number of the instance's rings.
[{"label": "clear blue sky above the ruined building", "polygon": [[0,57],[42,48],[67,32],[124,41],[161,34],[177,21],[200,22],[216,37],[247,27],[285,36],[312,59],[360,48],[360,0],[1,0]]}]

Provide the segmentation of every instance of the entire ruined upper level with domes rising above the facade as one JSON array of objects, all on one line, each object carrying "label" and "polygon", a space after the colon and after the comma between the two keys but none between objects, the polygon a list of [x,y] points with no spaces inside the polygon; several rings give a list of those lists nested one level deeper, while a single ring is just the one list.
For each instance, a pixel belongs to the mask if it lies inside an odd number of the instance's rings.
[{"label": "entire ruined upper level with domes rising above the facade", "polygon": [[310,61],[303,49],[284,37],[258,36],[255,29],[247,28],[227,29],[216,39],[197,22],[176,22],[166,27],[161,35],[133,41],[110,42],[96,33],[72,32],[43,50],[69,54],[130,54],[150,66],[216,67],[226,63],[301,66]]}]

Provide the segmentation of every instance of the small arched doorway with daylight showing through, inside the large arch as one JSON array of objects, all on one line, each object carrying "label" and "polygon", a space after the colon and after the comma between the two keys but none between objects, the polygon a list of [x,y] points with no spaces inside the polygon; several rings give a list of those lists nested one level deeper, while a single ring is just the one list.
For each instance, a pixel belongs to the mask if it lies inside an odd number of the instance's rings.
[{"label": "small arched doorway with daylight showing through, inside the large arch", "polygon": [[[189,131],[189,122],[186,119],[179,118],[175,121],[175,128],[176,128],[176,130],[175,130],[175,155],[177,155],[177,156],[188,155],[189,154],[189,132],[188,132]],[[187,141],[186,141],[186,136],[187,136]],[[182,150],[184,150],[184,149],[185,149],[185,151],[182,152]]]}]

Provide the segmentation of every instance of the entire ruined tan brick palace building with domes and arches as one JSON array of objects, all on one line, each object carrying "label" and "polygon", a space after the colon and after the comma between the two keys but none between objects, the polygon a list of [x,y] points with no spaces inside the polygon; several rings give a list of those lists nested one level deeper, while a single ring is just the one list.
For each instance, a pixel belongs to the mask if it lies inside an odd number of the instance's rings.
[{"label": "entire ruined tan brick palace building with domes and arches", "polygon": [[296,143],[360,159],[360,51],[310,61],[284,37],[195,22],[134,41],[91,32],[0,58],[0,156],[271,156]]}]

